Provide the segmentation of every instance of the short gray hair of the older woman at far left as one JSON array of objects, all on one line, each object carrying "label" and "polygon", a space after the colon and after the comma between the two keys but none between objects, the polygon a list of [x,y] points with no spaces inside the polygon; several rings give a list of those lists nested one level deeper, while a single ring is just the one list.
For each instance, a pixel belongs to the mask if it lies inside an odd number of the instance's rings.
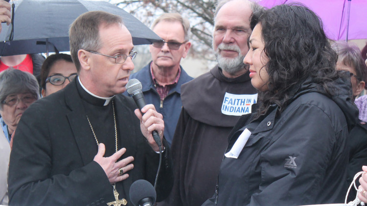
[{"label": "short gray hair of the older woman at far left", "polygon": [[14,68],[9,68],[0,73],[0,109],[2,101],[12,94],[29,92],[40,99],[39,85],[36,77],[28,72],[22,72]]}]

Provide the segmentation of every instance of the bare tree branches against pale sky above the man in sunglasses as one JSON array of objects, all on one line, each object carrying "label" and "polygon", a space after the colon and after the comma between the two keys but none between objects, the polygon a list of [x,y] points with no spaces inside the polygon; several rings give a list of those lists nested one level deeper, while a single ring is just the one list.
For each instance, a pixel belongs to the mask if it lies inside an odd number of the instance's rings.
[{"label": "bare tree branches against pale sky above the man in sunglasses", "polygon": [[212,29],[216,0],[121,0],[115,3],[135,15],[145,25],[163,12],[176,12],[188,18],[191,25],[190,55],[212,60]]}]

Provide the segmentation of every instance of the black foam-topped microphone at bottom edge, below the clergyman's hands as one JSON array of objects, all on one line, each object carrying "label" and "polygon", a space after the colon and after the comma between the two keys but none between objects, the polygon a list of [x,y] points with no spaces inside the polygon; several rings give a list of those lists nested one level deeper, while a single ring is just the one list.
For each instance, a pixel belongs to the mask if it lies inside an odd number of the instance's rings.
[{"label": "black foam-topped microphone at bottom edge, below the clergyman's hands", "polygon": [[153,185],[147,180],[136,180],[130,186],[130,200],[134,206],[153,206],[157,193]]}]

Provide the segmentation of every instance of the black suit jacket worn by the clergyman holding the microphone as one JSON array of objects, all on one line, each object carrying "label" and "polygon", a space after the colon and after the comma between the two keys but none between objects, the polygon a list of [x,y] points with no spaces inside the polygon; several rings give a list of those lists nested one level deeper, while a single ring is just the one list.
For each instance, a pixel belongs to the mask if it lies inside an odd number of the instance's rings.
[{"label": "black suit jacket worn by the clergyman holding the microphone", "polygon": [[[141,134],[132,98],[116,95],[114,102],[118,149],[127,149],[121,158],[135,158],[129,178],[117,182],[116,189],[119,199],[125,198],[132,205],[130,185],[139,179],[154,183],[159,154]],[[60,92],[33,103],[24,112],[13,142],[10,204],[106,205],[115,201],[105,172],[93,161],[97,150],[75,80]],[[168,195],[172,186],[169,148],[163,153],[160,177],[158,201]]]}]

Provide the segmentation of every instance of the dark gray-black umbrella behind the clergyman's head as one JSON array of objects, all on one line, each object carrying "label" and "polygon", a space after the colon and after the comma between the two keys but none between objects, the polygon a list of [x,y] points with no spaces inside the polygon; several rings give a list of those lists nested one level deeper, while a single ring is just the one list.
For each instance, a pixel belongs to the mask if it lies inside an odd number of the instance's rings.
[{"label": "dark gray-black umbrella behind the clergyman's head", "polygon": [[0,55],[69,51],[69,26],[87,11],[107,11],[123,18],[134,45],[152,44],[161,38],[131,14],[106,1],[18,0],[14,1],[14,35],[2,25]]}]

